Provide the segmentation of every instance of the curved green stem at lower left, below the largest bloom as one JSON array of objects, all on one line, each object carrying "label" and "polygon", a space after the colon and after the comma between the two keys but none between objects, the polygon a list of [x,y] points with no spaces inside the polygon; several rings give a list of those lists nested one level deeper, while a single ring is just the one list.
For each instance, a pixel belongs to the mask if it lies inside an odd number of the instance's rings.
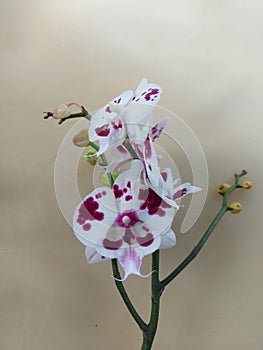
[{"label": "curved green stem at lower left, below the largest bloom", "polygon": [[135,310],[124,286],[123,283],[120,281],[121,279],[121,275],[118,269],[118,263],[117,263],[117,259],[112,259],[111,260],[111,264],[112,264],[112,271],[113,271],[113,276],[115,278],[115,284],[116,287],[122,297],[122,300],[124,301],[125,305],[127,306],[127,309],[129,310],[130,314],[132,315],[134,321],[138,324],[138,326],[140,327],[140,329],[145,332],[147,330],[147,325],[146,323],[141,319],[141,317],[139,316],[138,312]]}]

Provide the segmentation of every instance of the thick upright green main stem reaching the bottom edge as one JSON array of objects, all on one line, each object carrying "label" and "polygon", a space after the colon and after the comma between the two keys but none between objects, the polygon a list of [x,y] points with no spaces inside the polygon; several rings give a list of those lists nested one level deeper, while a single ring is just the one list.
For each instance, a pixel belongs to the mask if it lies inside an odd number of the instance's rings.
[{"label": "thick upright green main stem reaching the bottom edge", "polygon": [[150,350],[156,334],[159,310],[160,310],[160,281],[159,281],[159,250],[152,254],[152,303],[150,322],[147,325],[147,330],[143,333],[143,343],[141,350]]}]

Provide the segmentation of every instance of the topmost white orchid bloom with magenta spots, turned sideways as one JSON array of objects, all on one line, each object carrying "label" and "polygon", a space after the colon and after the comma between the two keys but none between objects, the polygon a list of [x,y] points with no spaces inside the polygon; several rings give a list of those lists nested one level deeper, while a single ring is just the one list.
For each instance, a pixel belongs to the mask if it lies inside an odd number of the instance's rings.
[{"label": "topmost white orchid bloom with magenta spots, turned sideways", "polygon": [[99,142],[97,155],[122,144],[126,134],[135,144],[144,142],[150,130],[151,112],[161,93],[159,85],[143,79],[135,93],[127,90],[96,112],[91,118],[89,140]]}]

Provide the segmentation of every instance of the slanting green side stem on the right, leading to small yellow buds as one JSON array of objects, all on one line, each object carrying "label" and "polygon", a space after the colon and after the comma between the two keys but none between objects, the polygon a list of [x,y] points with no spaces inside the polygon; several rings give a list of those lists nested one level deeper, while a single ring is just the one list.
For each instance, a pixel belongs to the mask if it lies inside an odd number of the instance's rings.
[{"label": "slanting green side stem on the right, leading to small yellow buds", "polygon": [[212,223],[210,224],[210,226],[208,227],[208,229],[205,231],[204,235],[202,236],[202,238],[200,239],[200,241],[197,243],[197,245],[194,247],[194,249],[191,251],[191,253],[181,262],[181,264],[179,266],[177,266],[165,279],[163,279],[160,282],[159,285],[159,295],[162,294],[164,288],[175,279],[175,277],[177,275],[179,275],[180,272],[182,272],[186,266],[188,264],[190,264],[190,262],[197,257],[198,253],[200,252],[200,250],[203,248],[203,246],[205,245],[206,241],[208,240],[208,238],[210,237],[211,233],[214,231],[215,227],[217,226],[217,224],[219,223],[219,221],[222,219],[222,217],[224,216],[224,214],[230,210],[230,208],[228,207],[227,203],[228,203],[228,197],[229,195],[236,189],[236,188],[240,188],[240,185],[238,184],[238,181],[240,179],[240,177],[246,175],[246,171],[243,170],[240,174],[235,174],[235,182],[234,184],[228,189],[228,191],[223,195],[223,201],[222,201],[222,206],[221,209],[219,210],[219,212],[217,213],[217,215],[215,216],[214,220],[212,221]]}]

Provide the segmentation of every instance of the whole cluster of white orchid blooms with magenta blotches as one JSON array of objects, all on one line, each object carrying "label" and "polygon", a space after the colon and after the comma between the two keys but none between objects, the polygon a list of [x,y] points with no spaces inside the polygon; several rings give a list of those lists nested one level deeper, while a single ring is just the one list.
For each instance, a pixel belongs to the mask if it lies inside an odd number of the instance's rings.
[{"label": "whole cluster of white orchid blooms with magenta blotches", "polygon": [[[152,112],[161,93],[159,85],[143,79],[135,92],[123,92],[91,115],[89,128],[74,138],[77,146],[95,145],[87,155],[93,160],[110,152],[111,162],[104,166],[112,179],[110,188],[96,188],[77,206],[74,233],[86,246],[88,262],[116,258],[124,279],[142,276],[145,255],[175,245],[172,223],[178,202],[200,190],[190,183],[175,186],[171,169],[160,169],[154,143],[168,119],[152,126]],[[65,119],[64,109],[68,106],[60,106],[55,117],[61,110]]]}]

